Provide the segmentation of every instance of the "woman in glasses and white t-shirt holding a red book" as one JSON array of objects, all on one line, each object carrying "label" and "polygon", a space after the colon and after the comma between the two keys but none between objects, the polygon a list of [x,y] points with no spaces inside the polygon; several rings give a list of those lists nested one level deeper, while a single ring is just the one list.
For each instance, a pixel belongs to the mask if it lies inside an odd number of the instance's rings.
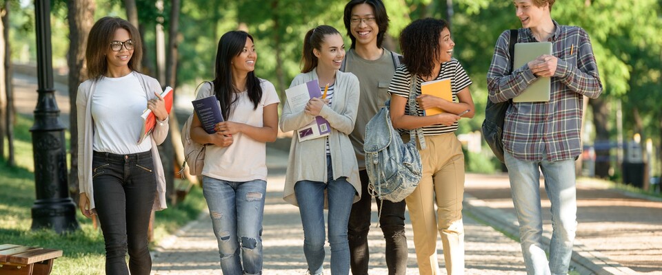
[{"label": "woman in glasses and white t-shirt holding a red book", "polygon": [[[150,274],[150,215],[166,208],[157,144],[168,135],[168,112],[159,82],[135,70],[142,54],[140,34],[131,23],[99,19],[86,48],[90,79],[78,87],[76,98],[79,207],[86,217],[99,217],[106,274]],[[145,108],[154,112],[157,124],[150,138],[137,143]]]}]

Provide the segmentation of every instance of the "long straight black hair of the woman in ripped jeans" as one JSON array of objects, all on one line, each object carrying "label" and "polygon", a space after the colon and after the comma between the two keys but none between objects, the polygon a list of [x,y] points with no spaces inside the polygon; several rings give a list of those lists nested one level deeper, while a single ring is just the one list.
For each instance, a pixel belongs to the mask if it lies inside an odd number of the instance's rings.
[{"label": "long straight black hair of the woman in ripped jeans", "polygon": [[[234,96],[237,88],[232,85],[232,58],[239,56],[243,47],[246,46],[246,40],[253,40],[253,36],[247,32],[233,30],[226,32],[219,40],[219,49],[216,53],[216,74],[214,83],[214,95],[221,102],[221,113],[223,118],[228,120],[234,104],[239,97]],[[257,109],[257,105],[262,98],[262,87],[260,79],[255,76],[254,72],[249,72],[246,76],[246,89],[248,90],[248,98],[253,103],[253,109]]]}]

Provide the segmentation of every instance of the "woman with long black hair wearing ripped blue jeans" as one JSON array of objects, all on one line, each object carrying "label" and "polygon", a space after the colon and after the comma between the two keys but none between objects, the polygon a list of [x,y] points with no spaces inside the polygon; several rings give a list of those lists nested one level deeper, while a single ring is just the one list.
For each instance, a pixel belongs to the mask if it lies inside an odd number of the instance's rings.
[{"label": "woman with long black hair wearing ripped blue jeans", "polygon": [[216,133],[211,134],[197,115],[191,123],[192,140],[208,144],[203,192],[223,274],[262,273],[265,142],[276,140],[279,98],[272,83],[255,76],[253,42],[250,34],[241,31],[221,36],[216,77],[201,87],[197,98],[216,96],[225,121],[216,124]]}]

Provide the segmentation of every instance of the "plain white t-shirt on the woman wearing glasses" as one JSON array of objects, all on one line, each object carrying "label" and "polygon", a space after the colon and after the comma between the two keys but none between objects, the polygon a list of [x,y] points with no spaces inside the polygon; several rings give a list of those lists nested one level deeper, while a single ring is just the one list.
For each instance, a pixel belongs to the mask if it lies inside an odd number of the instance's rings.
[{"label": "plain white t-shirt on the woman wearing glasses", "polygon": [[92,95],[92,119],[94,120],[94,144],[98,152],[119,155],[150,151],[152,142],[138,144],[147,109],[147,94],[136,74],[120,78],[101,77]]}]

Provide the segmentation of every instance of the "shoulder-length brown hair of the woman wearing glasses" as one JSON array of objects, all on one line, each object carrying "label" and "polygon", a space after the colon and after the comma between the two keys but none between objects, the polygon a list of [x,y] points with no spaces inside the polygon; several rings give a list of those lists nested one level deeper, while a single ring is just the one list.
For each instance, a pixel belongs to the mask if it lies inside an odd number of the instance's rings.
[{"label": "shoulder-length brown hair of the woman wearing glasses", "polygon": [[90,79],[99,80],[108,71],[106,54],[110,49],[112,37],[118,29],[129,32],[133,41],[133,54],[129,60],[129,69],[135,71],[140,65],[143,58],[143,41],[140,39],[140,32],[129,21],[119,17],[103,17],[92,25],[85,50],[88,77]]}]

